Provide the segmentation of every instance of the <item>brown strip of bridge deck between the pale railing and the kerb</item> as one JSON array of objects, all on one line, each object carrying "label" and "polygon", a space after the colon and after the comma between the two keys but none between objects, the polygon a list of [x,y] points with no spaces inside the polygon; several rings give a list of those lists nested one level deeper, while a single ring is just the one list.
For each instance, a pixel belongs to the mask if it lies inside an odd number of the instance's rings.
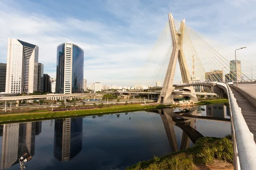
[{"label": "brown strip of bridge deck between the pale railing and the kerb", "polygon": [[244,98],[235,88],[231,88],[236,102],[241,108],[242,114],[244,116],[244,120],[249,127],[251,133],[253,133],[254,141],[256,142],[256,108],[248,102],[247,99]]}]

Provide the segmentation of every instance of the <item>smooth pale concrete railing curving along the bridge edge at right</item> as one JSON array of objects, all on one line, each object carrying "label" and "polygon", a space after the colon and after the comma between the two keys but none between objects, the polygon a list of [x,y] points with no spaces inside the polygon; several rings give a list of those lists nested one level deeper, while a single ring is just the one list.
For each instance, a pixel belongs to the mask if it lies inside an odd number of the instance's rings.
[{"label": "smooth pale concrete railing curving along the bridge edge at right", "polygon": [[238,170],[256,170],[256,144],[241,113],[230,87],[218,83],[227,89],[231,112],[232,139],[234,142],[234,167]]}]

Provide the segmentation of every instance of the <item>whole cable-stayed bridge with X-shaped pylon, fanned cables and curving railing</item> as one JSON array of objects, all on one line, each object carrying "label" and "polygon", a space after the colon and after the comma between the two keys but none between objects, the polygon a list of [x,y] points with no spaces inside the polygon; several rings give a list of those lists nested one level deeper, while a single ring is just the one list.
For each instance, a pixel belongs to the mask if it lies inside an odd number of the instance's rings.
[{"label": "whole cable-stayed bridge with X-shaped pylon, fanned cables and curving railing", "polygon": [[[159,93],[157,102],[161,104],[174,103],[174,99],[180,96],[196,102],[196,91],[229,99],[235,169],[256,169],[256,123],[251,122],[251,119],[256,119],[256,94],[253,96],[235,86],[231,89],[224,83],[236,81],[238,84],[250,80],[256,91],[252,80],[256,61],[241,54],[238,60],[234,60],[236,51],[210,40],[186,26],[185,19],[179,22],[169,13],[166,26],[148,54],[141,74],[138,74],[134,92]],[[248,68],[251,69],[251,78]],[[163,82],[162,88],[159,82]],[[177,94],[178,89],[183,92]],[[250,111],[247,111],[248,107]]]}]

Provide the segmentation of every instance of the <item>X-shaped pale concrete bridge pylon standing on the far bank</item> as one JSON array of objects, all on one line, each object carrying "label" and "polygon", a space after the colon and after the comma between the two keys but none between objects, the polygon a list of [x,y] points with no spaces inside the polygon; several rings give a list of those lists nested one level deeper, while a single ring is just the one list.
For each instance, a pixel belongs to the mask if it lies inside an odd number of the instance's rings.
[{"label": "X-shaped pale concrete bridge pylon standing on the far bank", "polygon": [[[166,76],[163,82],[163,88],[161,94],[158,98],[158,103],[174,103],[174,98],[179,95],[172,95],[172,91],[175,87],[173,87],[173,80],[175,76],[175,68],[177,64],[177,60],[180,65],[180,73],[182,77],[182,81],[185,84],[191,84],[191,78],[189,74],[189,68],[186,63],[186,59],[183,52],[183,37],[184,37],[184,28],[185,28],[185,19],[181,21],[180,28],[177,31],[175,28],[174,19],[171,13],[169,15],[169,26],[172,36],[172,54],[169,60],[169,65],[166,71]],[[192,86],[186,87],[187,90],[194,93],[194,88]],[[191,98],[192,101],[198,101],[195,94],[186,95]]]}]

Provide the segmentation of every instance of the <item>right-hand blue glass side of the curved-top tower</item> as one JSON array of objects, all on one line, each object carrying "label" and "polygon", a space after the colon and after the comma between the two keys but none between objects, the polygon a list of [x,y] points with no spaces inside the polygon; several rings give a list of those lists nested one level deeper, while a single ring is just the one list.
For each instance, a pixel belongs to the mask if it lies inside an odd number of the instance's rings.
[{"label": "right-hand blue glass side of the curved-top tower", "polygon": [[77,45],[73,45],[72,60],[72,93],[82,93],[84,78],[84,51]]}]

